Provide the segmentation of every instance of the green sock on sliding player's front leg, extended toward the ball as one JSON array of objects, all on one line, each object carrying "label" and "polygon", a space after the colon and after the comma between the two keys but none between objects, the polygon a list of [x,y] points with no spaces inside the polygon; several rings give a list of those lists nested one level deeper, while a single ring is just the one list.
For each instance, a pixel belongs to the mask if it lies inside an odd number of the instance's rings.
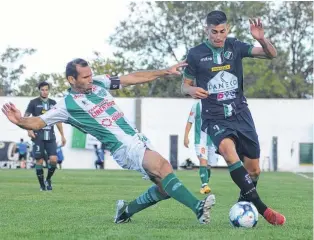
[{"label": "green sock on sliding player's front leg, extended toward the ball", "polygon": [[173,173],[168,174],[161,180],[164,191],[175,200],[197,213],[199,200],[179,181]]}]

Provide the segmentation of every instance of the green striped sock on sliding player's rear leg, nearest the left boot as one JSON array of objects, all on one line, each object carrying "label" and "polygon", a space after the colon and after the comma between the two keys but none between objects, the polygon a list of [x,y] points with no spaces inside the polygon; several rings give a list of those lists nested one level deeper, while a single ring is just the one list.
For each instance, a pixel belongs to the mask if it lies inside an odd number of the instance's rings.
[{"label": "green striped sock on sliding player's rear leg, nearest the left boot", "polygon": [[133,214],[144,210],[159,201],[169,199],[169,196],[164,196],[158,191],[158,187],[156,185],[151,186],[146,192],[140,195],[138,198],[134,199],[127,206],[126,213],[129,217]]}]

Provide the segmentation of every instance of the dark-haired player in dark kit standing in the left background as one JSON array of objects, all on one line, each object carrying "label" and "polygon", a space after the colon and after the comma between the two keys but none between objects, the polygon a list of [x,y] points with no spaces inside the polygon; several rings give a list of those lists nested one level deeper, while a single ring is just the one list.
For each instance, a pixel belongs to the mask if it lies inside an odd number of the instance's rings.
[{"label": "dark-haired player in dark kit standing in the left background", "polygon": [[[56,104],[55,100],[48,98],[49,88],[50,86],[47,82],[42,82],[38,85],[40,96],[29,102],[25,112],[25,117],[28,117],[30,115],[34,117],[42,115]],[[64,146],[66,140],[63,134],[62,123],[57,123],[56,125],[61,134],[62,145]],[[43,129],[37,131],[28,130],[28,136],[34,142],[33,153],[36,159],[35,168],[37,178],[40,184],[40,190],[52,190],[51,177],[57,165],[57,143],[54,128],[53,126],[46,126]],[[44,181],[43,171],[43,159],[45,151],[47,152],[47,155],[49,157],[48,174],[46,181]]]}]

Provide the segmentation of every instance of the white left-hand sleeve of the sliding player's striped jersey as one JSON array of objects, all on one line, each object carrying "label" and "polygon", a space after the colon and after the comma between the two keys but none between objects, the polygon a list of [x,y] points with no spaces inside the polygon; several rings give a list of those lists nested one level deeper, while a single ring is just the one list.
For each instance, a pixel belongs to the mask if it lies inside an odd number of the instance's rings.
[{"label": "white left-hand sleeve of the sliding player's striped jersey", "polygon": [[51,109],[49,109],[46,113],[38,117],[40,117],[47,124],[47,126],[50,126],[58,122],[67,122],[69,116],[70,115],[66,109],[65,101],[63,99]]}]

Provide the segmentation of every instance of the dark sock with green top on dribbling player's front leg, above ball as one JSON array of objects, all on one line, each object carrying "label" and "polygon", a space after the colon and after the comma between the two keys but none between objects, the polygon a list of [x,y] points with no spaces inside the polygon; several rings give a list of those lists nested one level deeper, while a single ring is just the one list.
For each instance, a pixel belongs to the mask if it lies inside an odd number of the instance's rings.
[{"label": "dark sock with green top on dribbling player's front leg, above ball", "polygon": [[247,201],[252,202],[257,208],[258,212],[261,215],[263,215],[265,210],[267,209],[267,206],[262,202],[262,200],[258,196],[253,181],[248,172],[242,166],[242,162],[238,161],[232,165],[229,165],[228,168],[232,180],[241,189],[243,197]]}]

